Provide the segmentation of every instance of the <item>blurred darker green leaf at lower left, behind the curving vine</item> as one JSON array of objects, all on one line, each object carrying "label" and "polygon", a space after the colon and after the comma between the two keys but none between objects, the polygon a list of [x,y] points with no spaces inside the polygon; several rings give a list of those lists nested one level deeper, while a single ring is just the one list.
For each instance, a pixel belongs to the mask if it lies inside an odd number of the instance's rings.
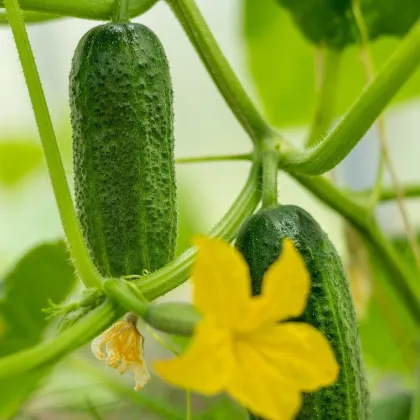
[{"label": "blurred darker green leaf at lower left, behind the curving vine", "polygon": [[[0,356],[36,344],[51,323],[42,309],[63,301],[75,284],[63,241],[29,251],[0,283]],[[0,418],[10,418],[35,390],[49,367],[0,382]]]}]

